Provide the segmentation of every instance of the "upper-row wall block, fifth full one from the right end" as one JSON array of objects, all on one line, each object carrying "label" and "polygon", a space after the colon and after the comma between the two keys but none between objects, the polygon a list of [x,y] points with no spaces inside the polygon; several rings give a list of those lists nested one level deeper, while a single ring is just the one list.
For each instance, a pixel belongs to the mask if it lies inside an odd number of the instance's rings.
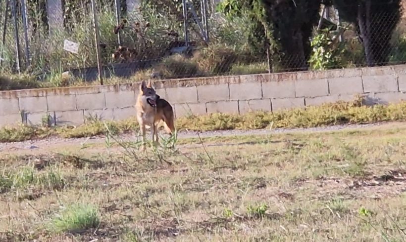
[{"label": "upper-row wall block, fifth full one from the right end", "polygon": [[262,98],[261,82],[245,82],[230,84],[230,99],[259,99]]}]

